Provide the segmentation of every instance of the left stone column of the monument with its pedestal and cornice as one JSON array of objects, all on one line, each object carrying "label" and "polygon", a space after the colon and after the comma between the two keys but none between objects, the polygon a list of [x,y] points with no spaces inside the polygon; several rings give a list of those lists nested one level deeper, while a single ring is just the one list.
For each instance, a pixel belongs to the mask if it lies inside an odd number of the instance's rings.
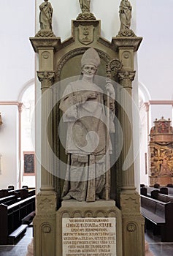
[{"label": "left stone column of the monument with its pedestal and cornice", "polygon": [[[53,83],[55,78],[54,53],[59,39],[56,37],[31,38],[39,57],[37,76],[41,82],[41,188],[36,195],[34,217],[34,255],[56,255],[56,192],[53,187]],[[45,34],[44,34],[45,36]],[[37,112],[38,116],[38,112]],[[39,118],[39,117],[38,117]]]}]

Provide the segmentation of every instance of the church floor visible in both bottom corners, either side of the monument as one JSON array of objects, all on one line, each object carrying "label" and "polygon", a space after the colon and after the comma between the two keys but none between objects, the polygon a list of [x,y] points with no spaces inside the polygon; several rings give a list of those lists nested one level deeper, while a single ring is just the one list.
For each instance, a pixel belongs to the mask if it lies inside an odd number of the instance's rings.
[{"label": "church floor visible in both bottom corners, either side of the monument", "polygon": [[[28,227],[26,234],[15,245],[0,245],[0,256],[26,256],[27,246],[31,242],[33,235],[32,227]],[[172,256],[173,242],[161,243],[160,236],[153,236],[150,230],[145,233],[145,240],[149,246],[150,252],[154,256]],[[139,255],[140,256],[140,255]]]}]

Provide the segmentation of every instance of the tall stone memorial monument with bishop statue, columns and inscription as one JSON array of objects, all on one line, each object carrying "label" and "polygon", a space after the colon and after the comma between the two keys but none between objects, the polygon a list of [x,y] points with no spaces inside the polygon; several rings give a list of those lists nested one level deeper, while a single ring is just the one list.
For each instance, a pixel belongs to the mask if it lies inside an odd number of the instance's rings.
[{"label": "tall stone memorial monument with bishop statue, columns and inscription", "polygon": [[132,138],[134,53],[142,37],[129,29],[130,20],[124,23],[131,4],[122,1],[120,32],[108,42],[90,2],[80,1],[69,39],[61,42],[52,26],[30,38],[42,90],[36,256],[145,255],[133,163],[123,170]]}]

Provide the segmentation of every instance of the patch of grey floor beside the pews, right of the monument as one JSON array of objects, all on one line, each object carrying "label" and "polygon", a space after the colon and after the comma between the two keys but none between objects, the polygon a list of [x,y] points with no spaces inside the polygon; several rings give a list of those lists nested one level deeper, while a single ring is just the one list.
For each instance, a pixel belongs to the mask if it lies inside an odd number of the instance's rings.
[{"label": "patch of grey floor beside the pews, right of the monument", "polygon": [[147,230],[145,240],[149,245],[150,252],[155,256],[173,256],[173,242],[162,243],[160,236],[153,236],[152,230]]}]

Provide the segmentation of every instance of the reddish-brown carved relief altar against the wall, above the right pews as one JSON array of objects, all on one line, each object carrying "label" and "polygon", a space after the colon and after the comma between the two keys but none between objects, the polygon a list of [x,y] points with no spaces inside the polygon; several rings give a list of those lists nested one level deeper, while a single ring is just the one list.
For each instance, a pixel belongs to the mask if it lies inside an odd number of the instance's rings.
[{"label": "reddish-brown carved relief altar against the wall, above the right pews", "polygon": [[154,121],[150,130],[150,186],[173,182],[173,130],[171,120]]}]

